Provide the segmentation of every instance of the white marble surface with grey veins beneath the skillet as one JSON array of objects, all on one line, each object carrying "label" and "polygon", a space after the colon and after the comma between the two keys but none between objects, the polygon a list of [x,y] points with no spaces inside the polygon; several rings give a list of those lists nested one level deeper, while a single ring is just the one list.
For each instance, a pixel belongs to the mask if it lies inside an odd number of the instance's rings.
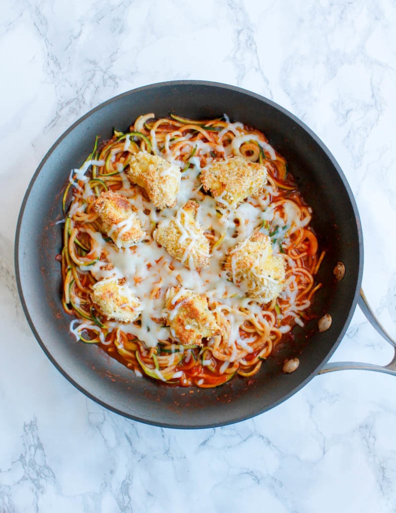
[{"label": "white marble surface with grey veins beneath the skillet", "polygon": [[[178,431],[111,413],[35,342],[13,244],[39,162],[115,94],[177,79],[281,104],[340,163],[360,209],[363,285],[396,336],[394,0],[4,0],[0,21],[0,511],[396,511],[396,379],[316,377],[233,426]],[[357,311],[332,360],[387,363]]]}]

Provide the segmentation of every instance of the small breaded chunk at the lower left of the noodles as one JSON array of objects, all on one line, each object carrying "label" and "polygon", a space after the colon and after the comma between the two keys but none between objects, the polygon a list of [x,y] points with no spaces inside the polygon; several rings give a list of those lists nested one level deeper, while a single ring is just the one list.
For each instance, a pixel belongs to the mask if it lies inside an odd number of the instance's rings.
[{"label": "small breaded chunk at the lower left of the noodles", "polygon": [[120,285],[120,280],[115,277],[96,282],[90,295],[96,308],[109,319],[128,323],[141,314],[139,299],[127,285]]}]

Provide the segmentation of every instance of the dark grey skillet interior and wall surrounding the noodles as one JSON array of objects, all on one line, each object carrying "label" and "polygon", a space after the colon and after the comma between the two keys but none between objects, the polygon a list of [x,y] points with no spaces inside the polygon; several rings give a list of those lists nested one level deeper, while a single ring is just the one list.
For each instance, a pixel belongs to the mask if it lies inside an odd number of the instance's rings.
[{"label": "dark grey skillet interior and wall surrounding the noodles", "polygon": [[[71,318],[61,305],[60,264],[62,192],[72,168],[91,151],[96,134],[109,139],[113,127],[126,130],[140,114],[174,112],[193,119],[226,113],[262,130],[289,163],[305,200],[312,206],[313,228],[326,258],[319,272],[322,289],[314,312],[332,317],[319,333],[317,319],[294,330],[294,340],[268,359],[253,379],[234,379],[214,389],[171,388],[137,378],[100,348],[76,342]],[[333,268],[345,265],[336,282]],[[359,298],[363,241],[357,206],[334,157],[318,137],[282,107],[236,87],[210,82],[167,82],[116,96],[91,110],[53,145],[39,165],[19,214],[15,267],[19,295],[30,327],[48,358],[64,376],[94,401],[130,419],[157,426],[199,428],[248,419],[289,398],[319,371],[339,345]],[[364,305],[363,305],[364,306]],[[372,319],[370,319],[372,320]],[[392,343],[392,342],[391,342]],[[298,357],[299,368],[284,374],[285,359]],[[394,372],[394,361],[385,369]]]}]

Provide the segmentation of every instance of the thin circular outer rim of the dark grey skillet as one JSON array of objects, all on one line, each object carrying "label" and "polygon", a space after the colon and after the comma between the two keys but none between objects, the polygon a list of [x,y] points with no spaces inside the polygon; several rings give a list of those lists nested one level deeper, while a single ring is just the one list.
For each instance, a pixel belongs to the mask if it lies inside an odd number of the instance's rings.
[{"label": "thin circular outer rim of the dark grey skillet", "polygon": [[[237,92],[237,93],[243,93],[243,94],[245,94],[247,96],[255,98],[256,100],[264,102],[264,103],[270,105],[271,107],[275,108],[276,110],[280,111],[282,114],[284,114],[287,117],[289,117],[294,123],[299,125],[305,132],[308,133],[308,135],[311,137],[311,139],[313,139],[313,141],[324,151],[324,153],[326,154],[326,156],[330,160],[331,164],[333,165],[335,170],[338,172],[338,174],[340,176],[340,179],[342,180],[342,183],[343,183],[343,185],[345,187],[346,193],[348,195],[349,202],[350,202],[350,205],[352,207],[352,210],[353,210],[353,213],[354,213],[354,217],[355,217],[355,221],[357,223],[357,228],[358,228],[357,233],[358,233],[358,245],[359,245],[359,269],[358,269],[357,285],[355,287],[352,304],[351,304],[351,307],[350,307],[347,319],[345,321],[345,324],[344,324],[342,330],[340,331],[338,338],[334,341],[330,351],[327,353],[326,357],[322,360],[322,362],[316,368],[314,368],[314,370],[304,380],[299,382],[299,384],[296,385],[294,388],[292,388],[288,393],[284,394],[278,401],[273,401],[272,404],[270,405],[270,407],[266,407],[264,409],[258,409],[257,411],[249,411],[248,413],[245,413],[244,415],[235,415],[232,418],[231,417],[227,418],[227,420],[224,421],[224,422],[222,422],[222,420],[219,419],[219,422],[216,422],[216,423],[210,422],[208,424],[200,423],[200,424],[192,425],[192,424],[189,424],[189,422],[191,422],[191,421],[188,421],[188,420],[187,420],[187,422],[175,422],[175,423],[173,423],[173,422],[160,422],[160,421],[155,421],[155,420],[153,421],[153,420],[150,420],[150,419],[145,419],[145,418],[142,418],[142,417],[139,417],[139,416],[131,415],[130,413],[127,413],[127,412],[125,412],[125,411],[123,411],[121,409],[118,409],[116,406],[114,406],[112,404],[109,404],[106,401],[103,401],[103,400],[98,399],[97,397],[95,397],[94,394],[92,394],[89,390],[87,390],[82,385],[80,385],[78,382],[76,382],[75,379],[72,376],[70,376],[70,374],[68,372],[66,372],[62,368],[61,364],[59,364],[55,360],[55,358],[52,356],[51,352],[48,350],[45,342],[42,339],[42,336],[38,333],[38,331],[37,331],[37,329],[35,327],[33,319],[31,318],[31,315],[30,315],[30,312],[29,312],[29,309],[28,309],[28,305],[27,305],[27,301],[25,299],[24,287],[23,287],[22,280],[21,280],[21,270],[19,268],[19,258],[21,256],[21,240],[20,240],[20,236],[21,236],[21,229],[22,229],[22,225],[23,225],[23,221],[24,221],[24,214],[25,214],[25,210],[26,210],[26,205],[28,203],[32,187],[33,187],[35,181],[37,180],[37,177],[39,176],[42,168],[44,167],[44,165],[46,164],[46,162],[48,161],[49,157],[52,155],[54,150],[57,148],[57,146],[60,145],[61,142],[65,139],[65,137],[67,137],[67,135],[70,132],[72,132],[78,125],[83,123],[87,118],[89,118],[96,111],[103,109],[105,106],[110,105],[110,104],[112,104],[114,102],[117,102],[118,100],[120,100],[120,98],[129,96],[131,94],[135,94],[137,92],[148,91],[148,90],[154,89],[154,88],[169,87],[169,86],[170,87],[179,87],[179,86],[208,86],[208,87],[217,87],[217,88],[222,88],[222,89],[228,89],[230,91],[234,91],[234,92]],[[311,381],[311,379],[318,373],[318,371],[331,358],[332,354],[334,353],[336,348],[339,346],[341,340],[343,339],[343,337],[345,335],[345,332],[346,332],[346,330],[347,330],[347,328],[348,328],[348,326],[350,324],[352,315],[354,313],[354,310],[355,310],[357,302],[358,302],[359,292],[360,292],[360,288],[361,288],[362,277],[363,277],[363,259],[364,259],[364,254],[363,254],[363,234],[362,234],[361,221],[360,221],[360,215],[359,215],[357,204],[355,202],[353,193],[351,191],[349,183],[348,183],[348,181],[347,181],[347,179],[346,179],[346,177],[345,177],[341,167],[339,166],[338,162],[336,162],[334,156],[332,155],[330,150],[327,148],[327,146],[322,142],[322,140],[307,125],[305,125],[304,122],[299,120],[298,117],[296,117],[294,114],[289,112],[284,107],[276,104],[272,100],[269,100],[268,98],[265,98],[265,97],[263,97],[263,96],[261,96],[261,95],[259,95],[257,93],[253,93],[251,91],[248,91],[248,90],[240,88],[240,87],[231,86],[231,85],[228,85],[228,84],[222,84],[222,83],[218,83],[218,82],[197,81],[197,80],[158,82],[158,83],[153,83],[153,84],[146,85],[146,86],[141,86],[141,87],[138,87],[138,88],[135,88],[135,89],[131,89],[131,90],[126,91],[124,93],[118,94],[118,95],[110,98],[109,100],[101,103],[100,105],[97,105],[96,107],[92,108],[87,113],[85,113],[83,116],[81,116],[77,121],[75,121],[68,129],[66,129],[60,135],[60,137],[58,137],[58,139],[53,143],[51,148],[47,151],[47,153],[43,157],[42,161],[39,163],[36,171],[34,172],[32,178],[31,178],[31,180],[29,182],[28,188],[26,190],[26,193],[25,193],[23,201],[22,201],[21,209],[19,211],[18,219],[17,219],[16,232],[15,232],[15,246],[14,246],[14,265],[15,265],[15,277],[16,277],[16,283],[17,283],[17,290],[18,290],[19,298],[21,299],[21,303],[22,303],[22,307],[23,307],[25,316],[27,318],[27,321],[28,321],[28,324],[30,326],[30,329],[32,330],[32,332],[34,334],[35,339],[37,340],[37,342],[39,343],[39,345],[41,346],[41,348],[43,349],[44,353],[49,358],[51,363],[55,366],[55,368],[58,371],[60,371],[61,374],[63,374],[63,376],[73,386],[75,386],[78,390],[83,392],[86,397],[92,399],[93,401],[95,401],[96,403],[100,404],[101,406],[104,406],[105,408],[107,408],[107,409],[117,413],[118,415],[121,415],[123,417],[129,418],[131,420],[135,420],[135,421],[138,421],[138,422],[149,424],[149,425],[154,425],[154,426],[158,426],[158,427],[167,427],[167,428],[177,428],[177,429],[212,428],[212,427],[220,427],[220,426],[229,425],[229,424],[233,424],[233,423],[237,423],[237,422],[242,422],[244,420],[247,420],[247,419],[250,419],[250,418],[255,417],[257,415],[260,415],[260,413],[268,411],[269,409],[272,409],[275,406],[278,406],[279,404],[281,404],[282,402],[286,401],[291,396],[293,396],[300,389],[302,389],[309,381]],[[177,419],[175,419],[175,420],[177,420]]]}]

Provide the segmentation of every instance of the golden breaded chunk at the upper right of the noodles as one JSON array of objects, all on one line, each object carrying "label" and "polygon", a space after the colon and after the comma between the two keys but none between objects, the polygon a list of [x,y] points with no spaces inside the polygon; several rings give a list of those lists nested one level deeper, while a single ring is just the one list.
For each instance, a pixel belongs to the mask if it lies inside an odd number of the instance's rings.
[{"label": "golden breaded chunk at the upper right of the noodles", "polygon": [[248,196],[259,194],[267,183],[264,164],[234,156],[214,160],[201,172],[205,191],[210,191],[219,205],[235,208]]}]

